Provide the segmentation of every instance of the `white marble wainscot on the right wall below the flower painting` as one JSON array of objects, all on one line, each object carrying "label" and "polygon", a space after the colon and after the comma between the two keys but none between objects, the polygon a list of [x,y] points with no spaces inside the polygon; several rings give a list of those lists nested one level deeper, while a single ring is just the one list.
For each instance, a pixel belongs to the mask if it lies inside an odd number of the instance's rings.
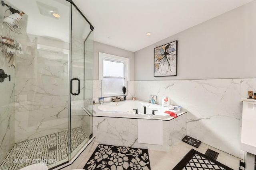
[{"label": "white marble wainscot on the right wall below the flower painting", "polygon": [[243,158],[240,150],[241,98],[256,91],[256,79],[163,80],[134,82],[136,99],[158,104],[167,96],[187,111],[187,135]]}]

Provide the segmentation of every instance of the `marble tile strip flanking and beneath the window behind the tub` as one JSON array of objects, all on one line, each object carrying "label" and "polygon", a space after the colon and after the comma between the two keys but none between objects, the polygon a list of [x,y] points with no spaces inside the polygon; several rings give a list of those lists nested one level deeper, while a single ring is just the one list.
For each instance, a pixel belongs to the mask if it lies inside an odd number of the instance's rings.
[{"label": "marble tile strip flanking and beneath the window behind the tub", "polygon": [[[134,97],[134,82],[127,81],[127,96],[126,100],[131,100]],[[99,104],[99,98],[102,97],[102,80],[93,80],[93,100],[96,104]],[[124,96],[114,96],[114,97],[122,97]],[[104,97],[104,102],[111,102],[111,98],[113,97]]]}]

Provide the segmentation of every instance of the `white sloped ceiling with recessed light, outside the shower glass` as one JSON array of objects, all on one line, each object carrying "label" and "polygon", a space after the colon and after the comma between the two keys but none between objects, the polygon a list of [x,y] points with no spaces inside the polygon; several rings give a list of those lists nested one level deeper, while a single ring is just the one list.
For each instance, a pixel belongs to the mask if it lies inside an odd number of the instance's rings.
[{"label": "white sloped ceiling with recessed light, outside the shower glass", "polygon": [[94,41],[132,52],[251,1],[73,0],[94,26]]}]

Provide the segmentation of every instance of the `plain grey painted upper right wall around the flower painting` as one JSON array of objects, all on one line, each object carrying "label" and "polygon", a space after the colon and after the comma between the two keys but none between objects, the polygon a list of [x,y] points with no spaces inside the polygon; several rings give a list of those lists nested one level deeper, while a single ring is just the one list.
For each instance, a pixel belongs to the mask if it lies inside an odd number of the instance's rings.
[{"label": "plain grey painted upper right wall around the flower painting", "polygon": [[[175,40],[178,75],[154,77],[154,48]],[[254,78],[254,64],[256,0],[136,51],[134,80]]]}]

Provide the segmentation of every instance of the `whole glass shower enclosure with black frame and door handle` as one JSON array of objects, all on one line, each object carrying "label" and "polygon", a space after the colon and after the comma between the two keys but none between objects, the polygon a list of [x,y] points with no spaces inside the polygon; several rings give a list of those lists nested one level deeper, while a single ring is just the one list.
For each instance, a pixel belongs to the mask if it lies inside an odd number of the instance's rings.
[{"label": "whole glass shower enclosure with black frame and door handle", "polygon": [[0,28],[0,170],[72,161],[92,137],[93,26],[71,0],[4,0]]}]

